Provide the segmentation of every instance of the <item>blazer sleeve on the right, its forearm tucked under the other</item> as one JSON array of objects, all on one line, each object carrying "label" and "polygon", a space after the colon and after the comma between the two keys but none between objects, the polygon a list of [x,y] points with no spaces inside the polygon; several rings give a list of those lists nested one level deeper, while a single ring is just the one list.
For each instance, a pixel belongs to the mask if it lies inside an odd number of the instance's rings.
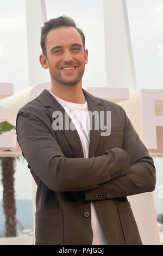
[{"label": "blazer sleeve on the right, its forearm tucked under the other", "polygon": [[[124,109],[123,109],[124,111]],[[151,192],[155,189],[155,167],[147,148],[141,142],[125,111],[125,127],[123,149],[131,162],[131,172],[116,179],[104,182],[97,188],[85,191],[85,200],[104,200],[108,198],[126,197],[133,194]],[[103,196],[104,195],[104,196]]]}]

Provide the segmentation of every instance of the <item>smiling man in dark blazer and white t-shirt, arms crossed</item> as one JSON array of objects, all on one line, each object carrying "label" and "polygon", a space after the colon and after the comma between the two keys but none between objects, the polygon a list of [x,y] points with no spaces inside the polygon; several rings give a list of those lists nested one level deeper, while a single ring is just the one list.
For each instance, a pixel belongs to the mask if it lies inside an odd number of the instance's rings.
[{"label": "smiling man in dark blazer and white t-shirt, arms crossed", "polygon": [[[36,245],[141,245],[127,196],[154,190],[153,159],[121,106],[82,89],[88,51],[74,21],[46,22],[41,47],[51,90],[16,118],[17,141],[37,184]],[[79,115],[88,111],[111,112],[110,135],[102,136],[96,121],[82,129]],[[64,114],[63,127],[68,117],[75,129],[59,129],[56,112]]]}]

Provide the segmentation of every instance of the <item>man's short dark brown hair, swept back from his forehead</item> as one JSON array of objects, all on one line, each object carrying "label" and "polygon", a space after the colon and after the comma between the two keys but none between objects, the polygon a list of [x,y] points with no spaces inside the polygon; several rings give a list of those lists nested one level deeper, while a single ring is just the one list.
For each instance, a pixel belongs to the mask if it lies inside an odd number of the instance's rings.
[{"label": "man's short dark brown hair, swept back from his forehead", "polygon": [[47,33],[53,29],[53,28],[58,28],[61,26],[67,26],[67,27],[74,27],[77,29],[79,34],[82,36],[82,41],[83,41],[83,47],[85,49],[85,36],[84,33],[80,28],[77,28],[76,23],[68,16],[60,16],[55,19],[51,19],[47,22],[44,23],[44,26],[41,28],[41,48],[42,48],[42,53],[47,57],[47,51],[46,51],[46,45],[45,45],[45,40]]}]

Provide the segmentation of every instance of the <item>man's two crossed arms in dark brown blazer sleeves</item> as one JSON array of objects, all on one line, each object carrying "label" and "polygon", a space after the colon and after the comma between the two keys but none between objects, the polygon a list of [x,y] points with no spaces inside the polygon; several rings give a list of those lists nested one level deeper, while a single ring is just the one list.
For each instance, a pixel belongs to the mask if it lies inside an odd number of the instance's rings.
[{"label": "man's two crossed arms in dark brown blazer sleeves", "polygon": [[88,159],[65,157],[45,123],[28,111],[18,112],[16,132],[29,166],[53,191],[84,191],[85,200],[96,200],[97,190],[116,198],[155,188],[153,159],[127,116],[123,149],[113,148]]}]

